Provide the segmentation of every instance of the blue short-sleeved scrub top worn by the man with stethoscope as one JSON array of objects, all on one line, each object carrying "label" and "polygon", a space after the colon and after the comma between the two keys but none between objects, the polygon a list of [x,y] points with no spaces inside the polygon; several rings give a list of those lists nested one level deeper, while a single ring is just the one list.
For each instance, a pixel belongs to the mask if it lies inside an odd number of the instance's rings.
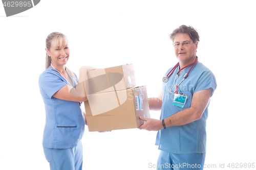
[{"label": "blue short-sleeved scrub top worn by the man with stethoscope", "polygon": [[[191,66],[185,68],[180,76],[175,81],[175,76],[179,70],[177,67],[172,76],[170,76],[167,83],[162,83],[162,110],[160,119],[164,119],[173,115],[183,109],[189,108],[191,105],[192,96],[199,90],[211,88],[211,96],[217,87],[214,74],[205,67],[202,63],[197,63],[189,72],[188,77],[179,85],[178,94],[185,93],[187,100],[184,108],[173,105],[174,94],[168,92],[172,88],[172,92],[176,90],[178,85],[186,72]],[[170,68],[172,69],[172,68]],[[170,71],[166,71],[165,75]],[[208,104],[209,106],[209,104]],[[159,150],[176,153],[176,154],[189,154],[189,153],[205,153],[206,152],[206,119],[208,117],[208,106],[206,107],[202,117],[192,123],[183,126],[167,127],[161,129],[157,133],[156,145]]]}]

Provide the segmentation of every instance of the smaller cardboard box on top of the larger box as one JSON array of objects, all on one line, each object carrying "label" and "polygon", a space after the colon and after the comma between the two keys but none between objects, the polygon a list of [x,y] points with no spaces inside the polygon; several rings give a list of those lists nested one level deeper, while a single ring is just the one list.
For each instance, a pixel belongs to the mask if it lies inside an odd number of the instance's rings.
[{"label": "smaller cardboard box on top of the larger box", "polygon": [[133,64],[88,72],[88,94],[125,90],[136,86]]}]

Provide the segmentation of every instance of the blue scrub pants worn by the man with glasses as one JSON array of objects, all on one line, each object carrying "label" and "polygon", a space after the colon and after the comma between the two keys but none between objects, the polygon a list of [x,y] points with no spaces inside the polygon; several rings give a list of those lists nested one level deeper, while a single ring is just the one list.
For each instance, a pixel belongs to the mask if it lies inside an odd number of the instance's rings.
[{"label": "blue scrub pants worn by the man with glasses", "polygon": [[174,154],[160,151],[157,160],[158,170],[193,169],[201,170],[204,167],[205,153],[203,154]]}]

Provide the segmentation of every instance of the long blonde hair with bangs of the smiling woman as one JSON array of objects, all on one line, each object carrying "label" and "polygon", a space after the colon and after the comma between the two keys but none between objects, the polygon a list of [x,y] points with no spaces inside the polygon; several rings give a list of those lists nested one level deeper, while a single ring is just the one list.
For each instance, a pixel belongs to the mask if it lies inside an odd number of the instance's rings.
[{"label": "long blonde hair with bangs of the smiling woman", "polygon": [[[61,43],[62,43],[62,38],[65,38],[66,41],[68,42],[68,37],[62,33],[58,33],[58,32],[53,32],[51,34],[49,34],[46,38],[46,48],[47,50],[51,50],[51,46],[53,45],[53,43],[55,43],[54,45],[57,46],[58,42],[60,43],[60,46],[61,46]],[[52,63],[52,58],[50,56],[48,56],[48,54],[46,53],[46,69],[51,65]],[[75,80],[76,77],[74,75],[74,73],[68,69],[67,67],[66,68],[66,71],[68,72],[68,74]]]}]

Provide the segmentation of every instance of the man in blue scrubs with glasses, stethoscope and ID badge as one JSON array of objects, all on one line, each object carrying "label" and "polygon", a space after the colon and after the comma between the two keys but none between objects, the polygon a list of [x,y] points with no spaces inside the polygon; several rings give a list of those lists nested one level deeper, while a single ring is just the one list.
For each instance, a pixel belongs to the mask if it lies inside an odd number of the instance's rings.
[{"label": "man in blue scrubs with glasses, stethoscope and ID badge", "polygon": [[[158,98],[148,100],[150,110],[161,109],[160,120],[140,117],[145,121],[140,129],[158,131],[156,145],[161,152],[157,169],[203,169],[206,119],[210,98],[217,87],[216,79],[206,66],[197,61],[197,30],[183,25],[170,34],[170,39],[174,42],[179,66],[174,68],[168,81],[162,83]],[[192,63],[195,65],[183,68]],[[186,79],[185,74],[188,74]],[[175,96],[185,99],[185,103],[177,104]]]}]

